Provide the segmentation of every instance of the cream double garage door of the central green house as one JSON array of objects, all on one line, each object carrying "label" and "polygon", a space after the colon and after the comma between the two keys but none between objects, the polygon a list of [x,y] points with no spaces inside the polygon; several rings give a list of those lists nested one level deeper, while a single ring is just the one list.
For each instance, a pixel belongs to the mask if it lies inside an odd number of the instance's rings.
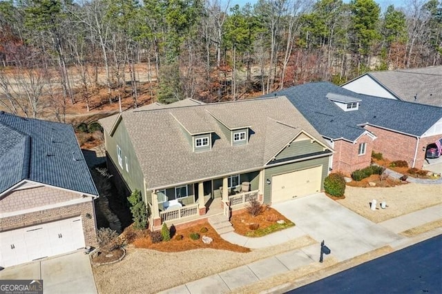
[{"label": "cream double garage door of the central green house", "polygon": [[271,202],[281,202],[320,191],[323,166],[307,168],[282,175],[274,175],[271,181]]}]

